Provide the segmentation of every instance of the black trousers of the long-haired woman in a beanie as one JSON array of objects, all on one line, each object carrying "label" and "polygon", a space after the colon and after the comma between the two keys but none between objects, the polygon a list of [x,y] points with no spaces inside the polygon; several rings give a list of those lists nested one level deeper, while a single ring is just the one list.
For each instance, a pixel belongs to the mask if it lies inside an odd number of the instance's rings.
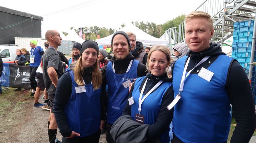
[{"label": "black trousers of the long-haired woman in a beanie", "polygon": [[96,133],[82,138],[71,138],[62,137],[62,143],[98,143],[101,136],[101,130],[98,130]]}]

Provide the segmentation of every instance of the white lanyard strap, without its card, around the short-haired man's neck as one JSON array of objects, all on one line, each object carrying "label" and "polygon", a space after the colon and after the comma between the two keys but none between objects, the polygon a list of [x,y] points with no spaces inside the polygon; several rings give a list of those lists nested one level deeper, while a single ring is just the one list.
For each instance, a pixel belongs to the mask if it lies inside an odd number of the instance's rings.
[{"label": "white lanyard strap, without its card, around the short-haired man's neck", "polygon": [[[196,68],[198,67],[199,65],[201,65],[201,63],[205,62],[207,59],[209,59],[210,56],[206,56],[204,57],[192,70],[190,70],[187,75],[186,75],[186,71],[187,71],[187,68],[188,68],[188,63],[189,63],[189,60],[190,60],[190,57],[188,57],[188,60],[186,62],[186,65],[184,67],[184,70],[183,70],[183,74],[182,74],[182,78],[181,78],[181,85],[179,86],[179,94],[183,91],[183,86],[184,86],[184,81],[185,81],[185,78],[188,77],[188,75]],[[185,77],[186,75],[186,77]]]}]

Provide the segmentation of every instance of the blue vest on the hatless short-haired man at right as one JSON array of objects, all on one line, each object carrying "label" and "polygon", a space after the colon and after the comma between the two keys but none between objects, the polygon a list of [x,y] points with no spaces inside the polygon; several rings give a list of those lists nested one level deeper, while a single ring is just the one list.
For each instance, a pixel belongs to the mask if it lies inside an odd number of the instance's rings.
[{"label": "blue vest on the hatless short-haired man at right", "polygon": [[[173,69],[173,90],[176,96],[187,56],[176,60]],[[225,85],[228,69],[233,59],[226,55],[207,68],[213,72],[208,82],[197,74],[185,79],[181,99],[174,106],[173,132],[186,143],[226,142],[230,130],[230,100]]]}]

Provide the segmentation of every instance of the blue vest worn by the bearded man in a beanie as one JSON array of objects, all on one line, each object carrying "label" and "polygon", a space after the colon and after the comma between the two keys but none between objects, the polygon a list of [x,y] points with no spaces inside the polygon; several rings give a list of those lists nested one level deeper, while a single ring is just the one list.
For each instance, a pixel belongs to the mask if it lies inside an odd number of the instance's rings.
[{"label": "blue vest worn by the bearded man in a beanie", "polygon": [[137,67],[139,61],[133,60],[130,70],[127,73],[116,74],[112,70],[112,61],[107,64],[106,80],[107,80],[107,123],[114,124],[118,117],[122,115],[123,109],[129,95],[129,87],[124,88],[122,83],[130,80],[133,82],[137,78]]}]

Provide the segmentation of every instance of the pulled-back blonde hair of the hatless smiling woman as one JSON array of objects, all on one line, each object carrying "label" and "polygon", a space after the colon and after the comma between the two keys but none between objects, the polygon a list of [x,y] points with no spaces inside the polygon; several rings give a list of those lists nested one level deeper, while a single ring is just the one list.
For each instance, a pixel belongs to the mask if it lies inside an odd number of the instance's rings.
[{"label": "pulled-back blonde hair of the hatless smiling woman", "polygon": [[156,45],[156,46],[153,46],[151,48],[151,50],[149,51],[149,55],[148,55],[148,59],[147,59],[147,70],[149,71],[149,59],[150,59],[150,56],[151,56],[152,52],[154,52],[154,51],[161,51],[161,52],[163,52],[165,54],[167,62],[168,62],[168,66],[166,67],[166,69],[168,69],[169,66],[170,66],[170,62],[171,62],[170,50],[167,47],[165,47],[165,46]]}]

